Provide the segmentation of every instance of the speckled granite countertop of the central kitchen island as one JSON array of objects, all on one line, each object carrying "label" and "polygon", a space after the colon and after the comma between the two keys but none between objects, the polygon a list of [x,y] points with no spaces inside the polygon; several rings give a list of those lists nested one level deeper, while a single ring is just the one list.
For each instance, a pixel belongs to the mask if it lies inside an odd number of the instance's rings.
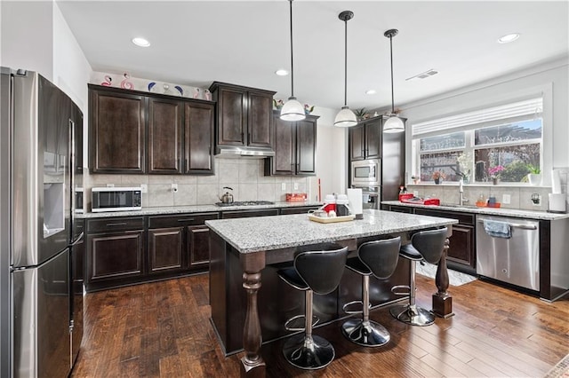
[{"label": "speckled granite countertop of the central kitchen island", "polygon": [[291,248],[326,241],[405,232],[456,224],[454,219],[365,209],[364,219],[322,224],[305,214],[278,217],[216,219],[205,224],[240,253]]}]

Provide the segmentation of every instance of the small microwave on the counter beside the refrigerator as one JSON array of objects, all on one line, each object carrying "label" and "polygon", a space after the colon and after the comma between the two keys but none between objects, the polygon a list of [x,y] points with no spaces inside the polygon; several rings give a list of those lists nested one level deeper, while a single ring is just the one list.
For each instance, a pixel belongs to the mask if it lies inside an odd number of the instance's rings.
[{"label": "small microwave on the counter beside the refrigerator", "polygon": [[92,212],[132,211],[142,209],[140,187],[96,187],[92,188]]}]

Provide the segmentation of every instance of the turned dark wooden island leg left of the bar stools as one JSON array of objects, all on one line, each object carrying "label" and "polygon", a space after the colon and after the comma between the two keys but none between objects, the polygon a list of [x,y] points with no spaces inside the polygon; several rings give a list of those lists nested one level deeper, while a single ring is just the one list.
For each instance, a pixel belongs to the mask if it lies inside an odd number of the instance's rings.
[{"label": "turned dark wooden island leg left of the bar stools", "polygon": [[241,358],[241,376],[264,377],[265,361],[260,357],[262,343],[260,335],[259,309],[257,307],[257,292],[260,289],[260,271],[265,267],[265,253],[241,255],[243,269],[243,287],[247,293],[247,312],[243,328],[244,358]]}]

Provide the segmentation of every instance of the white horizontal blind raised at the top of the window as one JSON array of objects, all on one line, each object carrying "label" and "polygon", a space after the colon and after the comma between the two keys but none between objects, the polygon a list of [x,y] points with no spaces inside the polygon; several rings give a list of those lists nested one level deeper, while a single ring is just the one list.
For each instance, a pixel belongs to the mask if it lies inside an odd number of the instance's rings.
[{"label": "white horizontal blind raised at the top of the window", "polygon": [[455,132],[474,128],[496,126],[499,124],[541,118],[543,98],[532,98],[511,104],[493,106],[474,112],[452,115],[429,122],[415,123],[413,137],[429,137],[440,131]]}]

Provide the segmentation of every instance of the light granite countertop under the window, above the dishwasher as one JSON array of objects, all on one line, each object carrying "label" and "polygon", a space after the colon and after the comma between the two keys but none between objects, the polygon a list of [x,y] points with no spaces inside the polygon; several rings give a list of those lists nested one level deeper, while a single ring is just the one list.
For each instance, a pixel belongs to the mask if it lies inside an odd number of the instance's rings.
[{"label": "light granite countertop under the window, above the dishwasher", "polygon": [[405,203],[400,201],[381,201],[382,205],[405,206],[408,208],[423,208],[433,210],[458,211],[461,213],[485,214],[489,216],[517,217],[528,219],[556,220],[569,217],[569,214],[548,213],[546,211],[532,211],[503,208],[478,208],[475,206],[459,206],[453,204],[420,205],[417,203]]}]

